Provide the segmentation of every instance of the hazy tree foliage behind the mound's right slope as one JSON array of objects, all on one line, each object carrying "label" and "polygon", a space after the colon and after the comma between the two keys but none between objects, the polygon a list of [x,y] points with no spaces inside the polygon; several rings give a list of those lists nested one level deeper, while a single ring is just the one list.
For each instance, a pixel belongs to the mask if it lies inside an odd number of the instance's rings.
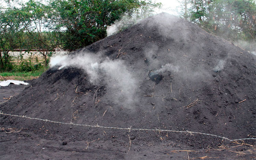
[{"label": "hazy tree foliage behind the mound's right slope", "polygon": [[188,3],[188,16],[183,14],[184,18],[227,40],[247,41],[245,49],[256,50],[255,0],[191,0]]}]

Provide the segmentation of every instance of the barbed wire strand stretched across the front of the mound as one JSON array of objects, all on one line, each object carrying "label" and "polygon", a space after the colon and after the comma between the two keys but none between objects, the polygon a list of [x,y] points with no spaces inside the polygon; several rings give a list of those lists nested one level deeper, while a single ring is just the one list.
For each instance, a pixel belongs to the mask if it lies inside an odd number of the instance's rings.
[{"label": "barbed wire strand stretched across the front of the mound", "polygon": [[104,126],[99,126],[98,124],[96,126],[93,125],[82,125],[82,124],[75,124],[75,123],[65,123],[65,122],[57,122],[57,121],[52,121],[52,120],[47,120],[47,119],[40,119],[40,118],[31,118],[31,117],[27,117],[27,116],[19,116],[19,115],[12,115],[12,114],[5,114],[2,111],[0,111],[0,115],[6,115],[6,116],[15,116],[15,117],[22,117],[22,118],[28,118],[28,119],[36,119],[36,120],[42,120],[45,122],[52,122],[52,123],[59,123],[59,124],[63,124],[63,125],[75,125],[75,126],[86,126],[86,127],[97,127],[97,128],[106,128],[106,129],[119,129],[119,130],[136,130],[136,131],[165,131],[165,132],[176,132],[176,133],[189,133],[190,136],[193,134],[202,134],[202,135],[209,135],[209,136],[214,136],[214,137],[218,137],[224,140],[228,140],[228,141],[239,141],[239,140],[256,140],[256,138],[244,138],[244,139],[234,139],[234,140],[230,140],[226,137],[222,137],[222,136],[218,136],[218,135],[214,135],[214,134],[208,134],[208,133],[200,133],[200,132],[191,132],[191,131],[175,131],[175,130],[162,130],[162,129],[140,129],[140,128],[118,128],[118,127],[104,127]]}]

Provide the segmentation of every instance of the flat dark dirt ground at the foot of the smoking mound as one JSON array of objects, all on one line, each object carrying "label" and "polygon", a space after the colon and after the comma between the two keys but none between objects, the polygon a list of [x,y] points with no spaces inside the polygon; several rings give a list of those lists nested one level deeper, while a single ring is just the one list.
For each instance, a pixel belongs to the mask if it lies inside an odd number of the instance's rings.
[{"label": "flat dark dirt ground at the foot of the smoking mound", "polygon": [[[20,94],[25,85],[10,85],[0,88],[0,103],[11,101],[5,97],[15,97]],[[27,119],[20,118],[20,121]],[[36,132],[23,128],[11,128],[12,126],[1,125],[0,129],[0,157],[1,159],[29,160],[29,159],[225,159],[225,160],[247,160],[255,159],[255,146],[242,141],[223,142],[216,148],[210,146],[197,148],[182,143],[167,141],[140,142],[136,137],[127,141],[117,142],[109,136],[108,140],[101,140],[101,136],[95,140],[72,141],[69,139],[47,139],[40,137]],[[73,126],[75,127],[75,126]],[[47,132],[42,126],[40,128]],[[72,127],[70,127],[70,130]],[[102,133],[102,130],[98,130]],[[103,132],[104,134],[104,132]],[[180,134],[179,136],[187,136]],[[197,135],[198,136],[198,135]],[[203,136],[202,136],[203,138]],[[88,143],[87,143],[88,142]]]}]

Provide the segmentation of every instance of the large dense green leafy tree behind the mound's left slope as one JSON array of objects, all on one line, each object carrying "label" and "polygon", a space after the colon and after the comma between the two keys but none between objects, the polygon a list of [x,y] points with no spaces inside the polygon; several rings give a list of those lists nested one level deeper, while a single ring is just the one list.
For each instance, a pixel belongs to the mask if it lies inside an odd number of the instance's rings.
[{"label": "large dense green leafy tree behind the mound's left slope", "polygon": [[64,48],[77,49],[106,37],[106,27],[125,13],[157,5],[139,0],[52,0],[52,29]]}]

